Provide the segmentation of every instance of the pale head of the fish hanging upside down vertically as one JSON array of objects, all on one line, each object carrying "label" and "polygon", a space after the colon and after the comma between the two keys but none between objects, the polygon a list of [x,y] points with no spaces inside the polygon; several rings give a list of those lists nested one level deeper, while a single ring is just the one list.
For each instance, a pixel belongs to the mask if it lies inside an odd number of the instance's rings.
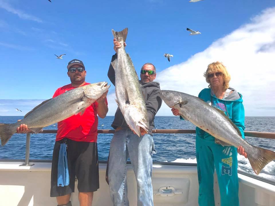
[{"label": "pale head of the fish hanging upside down vertically", "polygon": [[139,137],[141,136],[141,132],[148,133],[149,121],[147,114],[144,114],[135,106],[128,106],[126,108],[124,118],[130,129]]}]

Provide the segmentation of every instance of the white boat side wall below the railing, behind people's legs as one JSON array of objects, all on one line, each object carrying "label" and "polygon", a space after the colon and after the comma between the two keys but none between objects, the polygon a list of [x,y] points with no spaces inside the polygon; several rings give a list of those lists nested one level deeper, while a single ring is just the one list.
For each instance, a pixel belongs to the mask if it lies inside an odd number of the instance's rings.
[{"label": "white boat side wall below the railing, behind people's legs", "polygon": [[[50,197],[51,163],[35,162],[34,166],[19,166],[20,162],[0,162],[0,205],[48,206],[57,205]],[[127,165],[128,198],[130,205],[137,205],[135,175]],[[99,165],[100,189],[94,193],[93,206],[112,205],[109,187],[105,181],[106,164]],[[77,184],[77,182],[76,182]],[[153,165],[152,184],[154,193],[162,187],[176,192],[164,195],[154,194],[155,206],[196,206],[198,205],[197,167],[182,165]],[[220,205],[217,178],[214,180],[216,206]],[[170,187],[170,188],[169,188]],[[79,205],[77,187],[72,193],[72,205]],[[239,199],[241,206],[274,206],[275,186],[239,174]]]}]

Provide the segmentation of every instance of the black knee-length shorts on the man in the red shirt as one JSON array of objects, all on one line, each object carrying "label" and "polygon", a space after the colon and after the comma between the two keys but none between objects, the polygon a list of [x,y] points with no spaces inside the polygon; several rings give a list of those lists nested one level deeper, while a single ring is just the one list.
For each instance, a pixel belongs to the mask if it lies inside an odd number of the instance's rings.
[{"label": "black knee-length shorts on the man in the red shirt", "polygon": [[[60,144],[67,144],[67,158],[70,183],[57,186],[57,166]],[[98,154],[96,142],[76,142],[68,138],[56,141],[52,154],[51,197],[74,192],[75,177],[79,192],[94,192],[99,189]]]}]

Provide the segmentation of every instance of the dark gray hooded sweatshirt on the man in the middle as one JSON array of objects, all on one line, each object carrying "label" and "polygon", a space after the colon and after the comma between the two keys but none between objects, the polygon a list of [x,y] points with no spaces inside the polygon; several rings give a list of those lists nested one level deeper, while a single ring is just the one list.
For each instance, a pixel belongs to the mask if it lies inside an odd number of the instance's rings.
[{"label": "dark gray hooded sweatshirt on the man in the middle", "polygon": [[[117,58],[117,55],[116,54],[113,55],[111,62],[113,62],[116,58]],[[113,85],[115,85],[115,70],[111,64],[109,66],[108,77],[110,81],[113,83]],[[160,106],[162,103],[162,99],[160,98],[160,93],[159,93],[160,83],[158,82],[141,83],[140,82],[140,88],[145,98],[144,100],[145,100],[146,109],[147,109],[148,121],[150,124],[148,134],[152,135],[152,129],[155,127],[154,125],[155,115],[160,109]],[[116,129],[117,127],[129,128],[119,108],[117,108],[117,111],[115,112],[115,119],[111,126],[114,129]]]}]

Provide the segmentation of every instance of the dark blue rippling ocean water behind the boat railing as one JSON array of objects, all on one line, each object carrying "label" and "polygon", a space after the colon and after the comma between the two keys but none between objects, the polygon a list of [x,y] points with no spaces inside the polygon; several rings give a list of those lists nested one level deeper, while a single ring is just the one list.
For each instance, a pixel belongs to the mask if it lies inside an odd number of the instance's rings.
[{"label": "dark blue rippling ocean water behind the boat railing", "polygon": [[[0,123],[14,123],[22,116],[0,116]],[[98,129],[113,129],[113,116],[99,118]],[[245,117],[246,130],[275,132],[275,117]],[[103,126],[101,126],[103,125]],[[176,116],[156,116],[156,129],[195,129],[195,125],[182,121]],[[57,129],[57,124],[44,128]],[[99,160],[107,160],[113,134],[98,135]],[[154,134],[155,149],[153,161],[196,163],[195,134]],[[55,134],[31,134],[30,159],[52,159]],[[275,140],[246,137],[255,146],[275,151]],[[25,159],[26,134],[14,134],[9,142],[0,147],[0,159]],[[238,155],[238,167],[242,171],[254,173],[248,159]],[[275,179],[275,162],[272,161],[262,170],[261,177]]]}]

